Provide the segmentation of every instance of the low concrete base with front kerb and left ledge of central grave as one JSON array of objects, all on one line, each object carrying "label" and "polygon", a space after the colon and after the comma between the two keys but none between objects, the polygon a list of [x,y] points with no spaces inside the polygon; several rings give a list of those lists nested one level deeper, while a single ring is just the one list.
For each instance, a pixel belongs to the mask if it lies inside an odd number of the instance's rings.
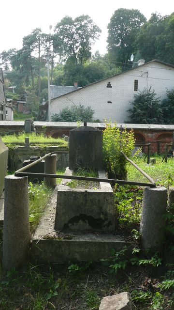
[{"label": "low concrete base with front kerb and left ledge of central grave", "polygon": [[[109,233],[76,233],[54,230],[58,188],[46,207],[34,233],[31,246],[33,263],[99,261],[130,244],[121,236]],[[130,247],[131,248],[131,247]]]}]

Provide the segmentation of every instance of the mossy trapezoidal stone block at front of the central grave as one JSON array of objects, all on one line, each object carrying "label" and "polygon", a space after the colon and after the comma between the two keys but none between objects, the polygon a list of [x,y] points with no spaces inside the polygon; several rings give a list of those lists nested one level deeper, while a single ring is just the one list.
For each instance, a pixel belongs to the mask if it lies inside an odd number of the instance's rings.
[{"label": "mossy trapezoidal stone block at front of the central grave", "polygon": [[[72,173],[72,170],[66,169],[66,174]],[[99,171],[99,178],[106,178],[104,171]],[[112,187],[103,182],[100,182],[100,187],[101,189],[79,189],[59,186],[55,229],[115,231],[116,211]]]}]

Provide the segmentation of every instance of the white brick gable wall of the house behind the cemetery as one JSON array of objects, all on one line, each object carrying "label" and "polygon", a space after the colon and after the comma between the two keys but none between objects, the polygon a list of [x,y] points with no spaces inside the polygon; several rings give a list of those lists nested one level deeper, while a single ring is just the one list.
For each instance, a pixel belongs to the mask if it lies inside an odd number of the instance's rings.
[{"label": "white brick gable wall of the house behind the cemetery", "polygon": [[131,108],[133,95],[150,87],[160,100],[164,99],[166,91],[174,88],[174,65],[153,60],[114,77],[59,95],[51,100],[51,115],[67,106],[81,104],[95,111],[94,119],[126,123],[129,121],[127,110]]}]

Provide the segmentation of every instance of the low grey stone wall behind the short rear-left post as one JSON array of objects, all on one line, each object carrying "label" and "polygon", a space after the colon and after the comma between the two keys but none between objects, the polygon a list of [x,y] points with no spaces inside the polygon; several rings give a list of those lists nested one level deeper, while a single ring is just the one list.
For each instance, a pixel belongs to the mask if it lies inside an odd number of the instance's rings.
[{"label": "low grey stone wall behind the short rear-left post", "polygon": [[[52,152],[67,152],[68,149],[58,146],[48,146],[41,148],[38,146],[25,147],[19,146],[10,149],[8,156],[8,169],[16,171],[23,167],[23,161],[29,159],[31,156],[44,156]],[[57,169],[66,168],[69,166],[69,154],[57,154]]]}]

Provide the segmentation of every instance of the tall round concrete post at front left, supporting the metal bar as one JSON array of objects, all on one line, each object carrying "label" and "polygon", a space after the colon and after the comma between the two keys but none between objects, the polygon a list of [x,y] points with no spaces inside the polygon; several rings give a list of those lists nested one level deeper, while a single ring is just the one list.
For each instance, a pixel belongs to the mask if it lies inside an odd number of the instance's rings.
[{"label": "tall round concrete post at front left, supporting the metal bar", "polygon": [[28,178],[6,176],[4,193],[2,268],[7,271],[29,261]]}]

